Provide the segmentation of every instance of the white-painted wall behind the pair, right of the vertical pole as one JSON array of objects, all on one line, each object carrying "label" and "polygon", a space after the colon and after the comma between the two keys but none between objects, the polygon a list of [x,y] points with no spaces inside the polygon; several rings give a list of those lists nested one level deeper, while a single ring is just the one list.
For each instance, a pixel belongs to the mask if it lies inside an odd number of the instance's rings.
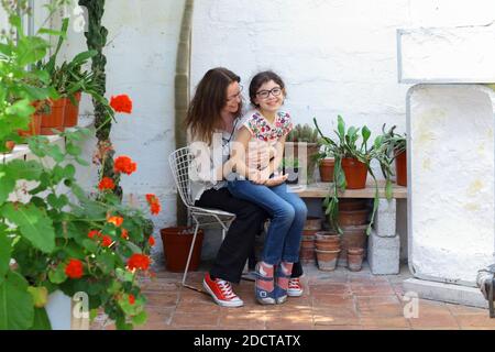
[{"label": "white-painted wall behind the pair, right of the vertical pole", "polygon": [[238,73],[245,88],[270,68],[287,84],[296,122],[316,117],[332,133],[340,113],[375,133],[385,122],[404,132],[409,86],[397,82],[396,30],[487,24],[494,15],[491,0],[201,0],[193,86],[215,66]]}]

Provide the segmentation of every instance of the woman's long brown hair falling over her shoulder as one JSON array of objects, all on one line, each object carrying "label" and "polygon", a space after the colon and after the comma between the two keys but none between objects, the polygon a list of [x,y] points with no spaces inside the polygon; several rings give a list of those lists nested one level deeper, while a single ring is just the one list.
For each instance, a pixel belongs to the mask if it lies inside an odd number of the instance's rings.
[{"label": "woman's long brown hair falling over her shoulder", "polygon": [[[195,140],[211,144],[215,130],[222,123],[220,112],[227,103],[227,88],[234,81],[240,82],[241,77],[223,67],[211,68],[201,78],[186,117],[186,128]],[[242,100],[237,117],[241,111]]]}]

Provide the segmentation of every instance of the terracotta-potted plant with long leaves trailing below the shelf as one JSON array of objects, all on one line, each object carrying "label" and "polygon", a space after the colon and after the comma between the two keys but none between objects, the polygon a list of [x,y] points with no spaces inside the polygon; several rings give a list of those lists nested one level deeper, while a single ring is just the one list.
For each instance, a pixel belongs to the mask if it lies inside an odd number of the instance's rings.
[{"label": "terracotta-potted plant with long leaves trailing below the shelf", "polygon": [[[338,233],[342,233],[338,221],[339,194],[346,188],[364,188],[367,173],[370,173],[375,184],[373,210],[366,229],[366,233],[370,234],[378,206],[378,185],[370,164],[372,160],[381,158],[384,154],[385,145],[383,144],[383,136],[378,135],[373,145],[369,146],[371,138],[370,129],[366,125],[363,128],[350,127],[346,129],[342,117],[338,116],[338,129],[334,131],[337,140],[334,141],[323,135],[316,118],[314,122],[322,138],[324,148],[330,151],[336,160],[333,184],[331,185],[332,191],[323,200],[323,207],[326,208],[326,215],[329,217],[330,226]],[[392,187],[389,188],[392,189]]]}]

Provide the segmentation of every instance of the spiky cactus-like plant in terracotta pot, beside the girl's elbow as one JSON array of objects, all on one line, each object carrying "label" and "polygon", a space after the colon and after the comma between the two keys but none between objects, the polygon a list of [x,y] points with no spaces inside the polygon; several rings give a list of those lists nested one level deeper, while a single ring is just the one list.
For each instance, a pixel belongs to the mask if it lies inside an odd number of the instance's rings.
[{"label": "spiky cactus-like plant in terracotta pot, beside the girl's elbow", "polygon": [[[287,134],[285,142],[285,155],[289,157],[299,158],[299,151],[306,150],[306,161],[308,170],[308,180],[312,178],[315,165],[318,158],[318,151],[321,146],[321,141],[318,138],[318,131],[312,129],[309,124],[296,124],[296,127]],[[287,151],[294,151],[288,154]]]}]

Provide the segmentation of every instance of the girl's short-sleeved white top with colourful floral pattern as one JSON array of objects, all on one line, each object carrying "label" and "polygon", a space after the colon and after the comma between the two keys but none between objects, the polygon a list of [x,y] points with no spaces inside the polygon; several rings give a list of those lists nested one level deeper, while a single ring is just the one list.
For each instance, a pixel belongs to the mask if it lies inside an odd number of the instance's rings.
[{"label": "girl's short-sleeved white top with colourful floral pattern", "polygon": [[290,116],[285,111],[277,111],[275,121],[270,123],[257,110],[251,110],[242,118],[242,124],[250,132],[253,139],[276,143],[280,138],[293,130]]}]

